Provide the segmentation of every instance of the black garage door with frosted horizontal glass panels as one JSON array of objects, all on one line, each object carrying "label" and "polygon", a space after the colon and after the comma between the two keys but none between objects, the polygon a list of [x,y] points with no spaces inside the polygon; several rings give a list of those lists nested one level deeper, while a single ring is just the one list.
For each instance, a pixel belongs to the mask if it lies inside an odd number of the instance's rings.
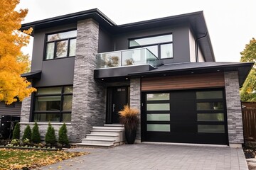
[{"label": "black garage door with frosted horizontal glass panels", "polygon": [[142,94],[142,141],[228,144],[223,89]]}]

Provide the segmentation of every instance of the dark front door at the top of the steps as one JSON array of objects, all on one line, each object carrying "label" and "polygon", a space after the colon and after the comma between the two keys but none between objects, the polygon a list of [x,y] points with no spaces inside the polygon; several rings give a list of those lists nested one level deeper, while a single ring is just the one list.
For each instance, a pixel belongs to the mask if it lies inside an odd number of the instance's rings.
[{"label": "dark front door at the top of the steps", "polygon": [[111,87],[108,89],[107,123],[119,123],[119,111],[128,103],[128,87]]}]

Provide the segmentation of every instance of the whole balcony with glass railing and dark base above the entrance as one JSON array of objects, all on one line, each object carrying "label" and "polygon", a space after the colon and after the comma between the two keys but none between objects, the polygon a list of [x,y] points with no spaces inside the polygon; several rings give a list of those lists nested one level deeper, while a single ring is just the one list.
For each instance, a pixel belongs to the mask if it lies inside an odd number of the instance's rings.
[{"label": "whole balcony with glass railing and dark base above the entrance", "polygon": [[159,59],[147,48],[104,52],[96,55],[95,79],[120,81],[128,74],[156,69]]}]

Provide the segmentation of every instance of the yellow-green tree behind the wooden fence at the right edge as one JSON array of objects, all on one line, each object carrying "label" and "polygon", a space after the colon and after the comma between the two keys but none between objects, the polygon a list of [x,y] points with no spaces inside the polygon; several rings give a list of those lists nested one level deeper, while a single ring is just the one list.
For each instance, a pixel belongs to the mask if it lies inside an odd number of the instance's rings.
[{"label": "yellow-green tree behind the wooden fence at the right edge", "polygon": [[[240,62],[256,62],[256,40],[252,38],[250,43],[245,45],[245,50],[240,52]],[[252,67],[245,83],[240,89],[242,101],[256,101],[256,69]]]}]

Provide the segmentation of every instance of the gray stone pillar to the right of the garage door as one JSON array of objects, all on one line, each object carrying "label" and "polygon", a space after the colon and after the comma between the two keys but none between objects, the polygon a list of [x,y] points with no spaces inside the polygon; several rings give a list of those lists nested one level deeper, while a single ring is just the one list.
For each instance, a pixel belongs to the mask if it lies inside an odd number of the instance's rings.
[{"label": "gray stone pillar to the right of the garage door", "polygon": [[224,75],[228,115],[228,140],[230,144],[242,144],[244,140],[238,72],[225,72]]}]

